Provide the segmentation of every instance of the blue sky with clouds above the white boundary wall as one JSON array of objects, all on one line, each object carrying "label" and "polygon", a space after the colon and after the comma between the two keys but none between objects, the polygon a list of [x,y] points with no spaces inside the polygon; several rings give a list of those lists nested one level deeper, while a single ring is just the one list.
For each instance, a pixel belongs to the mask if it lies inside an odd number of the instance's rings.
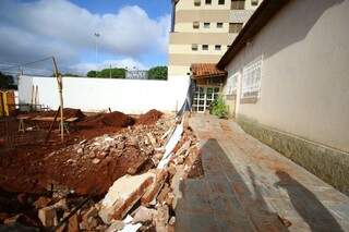
[{"label": "blue sky with clouds above the white boundary wall", "polygon": [[170,0],[0,0],[0,69],[51,56],[80,74],[167,65],[170,12]]}]

